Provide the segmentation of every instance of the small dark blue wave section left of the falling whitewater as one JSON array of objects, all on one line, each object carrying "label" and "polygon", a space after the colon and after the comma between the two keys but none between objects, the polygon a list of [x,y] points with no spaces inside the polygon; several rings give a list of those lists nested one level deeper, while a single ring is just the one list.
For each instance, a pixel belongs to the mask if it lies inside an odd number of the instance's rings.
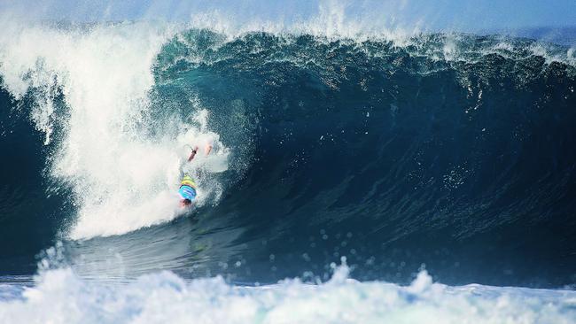
[{"label": "small dark blue wave section left of the falling whitewater", "polygon": [[0,274],[34,274],[35,255],[54,243],[66,213],[66,194],[45,175],[43,134],[28,120],[33,105],[0,89]]}]

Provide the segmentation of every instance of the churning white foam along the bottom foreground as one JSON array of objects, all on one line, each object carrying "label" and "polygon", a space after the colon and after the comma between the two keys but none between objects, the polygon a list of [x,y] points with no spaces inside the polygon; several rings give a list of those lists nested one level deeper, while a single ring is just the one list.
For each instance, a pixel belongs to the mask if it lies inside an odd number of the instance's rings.
[{"label": "churning white foam along the bottom foreground", "polygon": [[[2,323],[573,323],[576,292],[449,287],[425,271],[403,287],[357,282],[348,267],[331,281],[298,279],[242,287],[222,277],[185,282],[170,272],[126,285],[86,282],[70,269],[50,270],[34,288],[0,302]],[[0,289],[8,289],[0,287]],[[9,294],[0,294],[8,296]]]}]

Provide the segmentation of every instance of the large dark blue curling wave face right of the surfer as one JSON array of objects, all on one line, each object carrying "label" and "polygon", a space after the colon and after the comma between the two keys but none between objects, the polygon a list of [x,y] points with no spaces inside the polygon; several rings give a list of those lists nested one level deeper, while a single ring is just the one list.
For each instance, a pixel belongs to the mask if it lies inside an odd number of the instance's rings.
[{"label": "large dark blue curling wave face right of the surfer", "polygon": [[[158,81],[197,93],[225,142],[253,135],[248,172],[206,211],[245,228],[252,274],[346,256],[362,279],[406,282],[425,264],[448,283],[576,280],[572,66],[529,41],[491,50],[496,37],[458,38],[451,60],[432,55],[446,35],[401,48],[249,35],[216,50],[217,35],[187,37]],[[251,127],[235,129],[238,109]]]}]

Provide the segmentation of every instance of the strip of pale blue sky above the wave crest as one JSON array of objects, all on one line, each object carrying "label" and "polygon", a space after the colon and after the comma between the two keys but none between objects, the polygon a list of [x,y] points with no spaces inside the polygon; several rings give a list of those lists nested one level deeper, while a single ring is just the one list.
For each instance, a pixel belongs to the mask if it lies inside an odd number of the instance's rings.
[{"label": "strip of pale blue sky above the wave crest", "polygon": [[[522,27],[576,27],[576,1],[388,0],[388,1],[176,1],[4,0],[0,12],[32,19],[77,21],[167,19],[185,21],[198,12],[219,12],[239,22],[314,19],[322,10],[345,19],[385,21],[388,27],[475,31]],[[319,13],[320,12],[320,13]]]}]

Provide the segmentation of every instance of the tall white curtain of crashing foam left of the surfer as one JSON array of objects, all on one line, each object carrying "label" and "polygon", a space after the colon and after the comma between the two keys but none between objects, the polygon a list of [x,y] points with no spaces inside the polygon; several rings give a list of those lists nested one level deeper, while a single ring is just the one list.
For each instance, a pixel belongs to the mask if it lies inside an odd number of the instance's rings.
[{"label": "tall white curtain of crashing foam left of the surfer", "polygon": [[[148,96],[152,65],[174,30],[151,23],[72,30],[18,26],[6,23],[0,73],[17,99],[35,96],[31,120],[45,134],[44,143],[55,146],[51,176],[74,190],[78,216],[68,235],[117,235],[175,218],[183,172],[179,142],[206,133],[207,121],[203,132],[186,134],[181,122],[173,126],[177,135],[151,135],[159,123],[173,123],[152,120]],[[58,91],[66,105],[59,115]],[[214,142],[214,155],[224,154],[214,133],[202,138]],[[225,161],[218,162],[222,170]]]}]

